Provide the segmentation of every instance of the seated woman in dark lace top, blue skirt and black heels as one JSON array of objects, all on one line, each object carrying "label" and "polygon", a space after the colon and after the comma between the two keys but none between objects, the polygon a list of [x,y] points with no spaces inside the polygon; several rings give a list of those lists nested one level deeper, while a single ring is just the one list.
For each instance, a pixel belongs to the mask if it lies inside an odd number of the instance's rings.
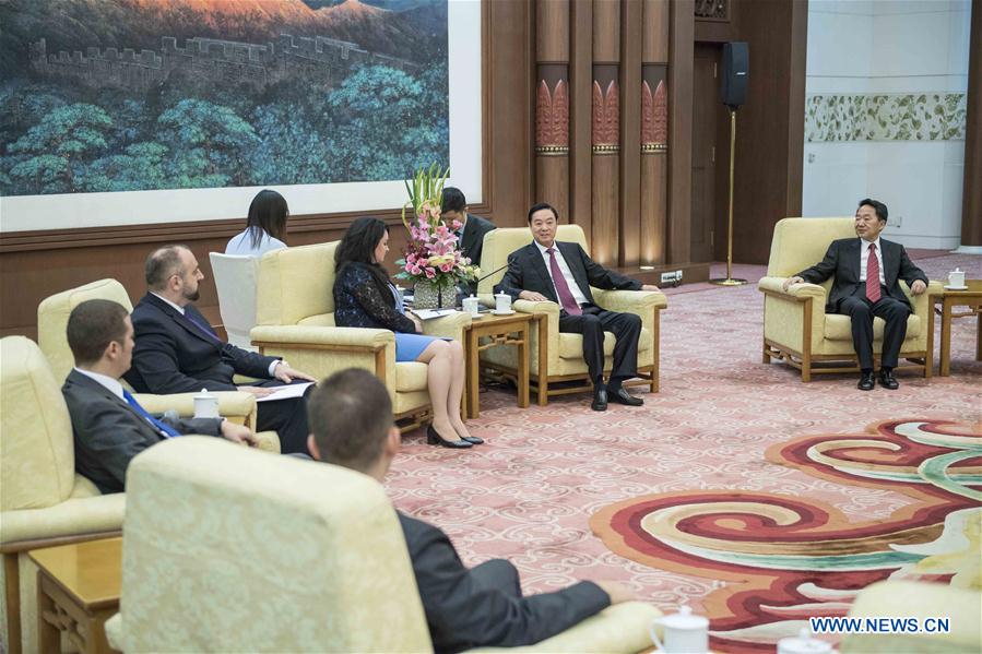
[{"label": "seated woman in dark lace top, blue skirt and black heels", "polygon": [[470,448],[484,440],[472,437],[460,415],[464,390],[464,355],[458,341],[425,336],[423,323],[406,314],[395,286],[381,263],[389,251],[389,228],[378,218],[352,223],[334,251],[334,323],[395,332],[395,360],[427,364],[433,425],[426,442],[445,448]]}]

